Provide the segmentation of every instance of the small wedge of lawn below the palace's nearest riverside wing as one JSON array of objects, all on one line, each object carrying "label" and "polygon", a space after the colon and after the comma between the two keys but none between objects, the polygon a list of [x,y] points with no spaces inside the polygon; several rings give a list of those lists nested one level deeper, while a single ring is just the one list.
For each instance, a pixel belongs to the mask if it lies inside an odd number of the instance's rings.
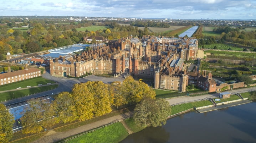
[{"label": "small wedge of lawn below the palace's nearest riverside wing", "polygon": [[179,97],[184,96],[185,93],[179,93],[179,92],[173,92],[168,90],[160,90],[160,89],[154,89],[156,98],[171,98],[171,97]]}]

